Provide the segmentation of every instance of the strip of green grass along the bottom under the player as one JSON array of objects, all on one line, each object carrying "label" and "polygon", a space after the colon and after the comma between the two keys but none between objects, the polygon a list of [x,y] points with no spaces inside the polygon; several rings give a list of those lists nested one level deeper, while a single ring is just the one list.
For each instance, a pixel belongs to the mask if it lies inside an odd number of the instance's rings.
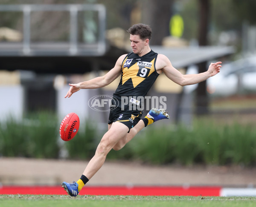
[{"label": "strip of green grass along the bottom under the player", "polygon": [[0,195],[1,207],[255,207],[256,197]]}]

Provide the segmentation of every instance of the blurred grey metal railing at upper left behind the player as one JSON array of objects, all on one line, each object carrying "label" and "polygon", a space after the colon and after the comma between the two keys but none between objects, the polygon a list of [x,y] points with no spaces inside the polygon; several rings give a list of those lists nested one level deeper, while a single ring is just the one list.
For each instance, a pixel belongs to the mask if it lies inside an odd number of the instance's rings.
[{"label": "blurred grey metal railing at upper left behind the player", "polygon": [[[31,41],[31,14],[35,12],[52,11],[69,13],[69,41],[67,42],[37,42]],[[0,42],[0,56],[98,56],[105,53],[105,6],[101,4],[56,4],[56,5],[0,5],[0,14],[21,12],[23,16],[23,41],[20,43]],[[94,21],[96,25],[96,42],[79,42],[79,12],[96,12],[96,18],[83,21]],[[84,24],[84,26],[90,24]]]}]

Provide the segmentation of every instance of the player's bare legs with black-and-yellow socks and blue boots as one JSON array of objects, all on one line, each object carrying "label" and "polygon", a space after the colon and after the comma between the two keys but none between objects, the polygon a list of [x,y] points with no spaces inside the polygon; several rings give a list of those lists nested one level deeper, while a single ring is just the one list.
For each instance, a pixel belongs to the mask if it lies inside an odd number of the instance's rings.
[{"label": "player's bare legs with black-and-yellow socks and blue boots", "polygon": [[102,167],[108,152],[112,148],[120,150],[141,129],[160,119],[169,119],[169,117],[169,114],[163,109],[152,108],[145,118],[141,119],[134,128],[131,128],[130,133],[127,133],[128,128],[125,125],[122,125],[120,122],[114,122],[108,132],[102,137],[95,155],[87,164],[87,167],[79,181],[74,181],[73,183],[63,182],[62,187],[64,187],[70,196],[77,196],[84,184],[86,184],[87,181],[89,181],[89,179],[99,170],[99,168]]}]

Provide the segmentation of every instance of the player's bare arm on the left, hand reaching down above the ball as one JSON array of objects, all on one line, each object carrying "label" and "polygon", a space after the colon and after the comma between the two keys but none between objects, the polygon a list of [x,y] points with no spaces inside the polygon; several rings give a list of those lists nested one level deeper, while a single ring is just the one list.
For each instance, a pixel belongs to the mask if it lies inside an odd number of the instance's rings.
[{"label": "player's bare arm on the left, hand reaching down above the ball", "polygon": [[126,54],[120,56],[116,61],[116,65],[114,66],[114,68],[108,71],[108,73],[104,76],[96,77],[84,82],[79,82],[77,84],[69,84],[70,89],[67,91],[65,98],[69,98],[70,96],[72,96],[72,94],[79,91],[80,89],[102,88],[113,82],[113,80],[115,80],[121,74],[122,61],[124,60],[125,56]]}]

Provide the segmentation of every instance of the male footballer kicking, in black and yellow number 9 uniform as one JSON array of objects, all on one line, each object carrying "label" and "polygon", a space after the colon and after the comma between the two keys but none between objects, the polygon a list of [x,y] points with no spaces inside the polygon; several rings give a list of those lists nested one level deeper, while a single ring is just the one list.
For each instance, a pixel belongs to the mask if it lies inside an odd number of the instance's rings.
[{"label": "male footballer kicking, in black and yellow number 9 uniform", "polygon": [[[160,119],[169,118],[168,113],[163,109],[151,109],[145,118],[140,119],[143,111],[139,110],[141,103],[136,97],[144,97],[159,74],[164,73],[173,82],[184,86],[204,81],[220,71],[221,62],[215,62],[211,63],[204,73],[183,75],[172,66],[165,55],[157,54],[151,50],[149,40],[152,30],[148,25],[135,24],[128,29],[128,32],[133,52],[120,56],[114,68],[104,76],[78,84],[69,84],[70,89],[65,98],[72,96],[80,89],[102,88],[113,82],[121,74],[121,80],[113,94],[113,97],[118,99],[119,105],[110,112],[108,131],[102,137],[95,155],[87,164],[81,178],[77,182],[62,183],[62,187],[70,196],[79,194],[81,188],[102,167],[111,149],[122,149],[147,125]],[[130,99],[130,97],[132,98]],[[129,103],[123,105],[124,100],[127,99]]]}]

